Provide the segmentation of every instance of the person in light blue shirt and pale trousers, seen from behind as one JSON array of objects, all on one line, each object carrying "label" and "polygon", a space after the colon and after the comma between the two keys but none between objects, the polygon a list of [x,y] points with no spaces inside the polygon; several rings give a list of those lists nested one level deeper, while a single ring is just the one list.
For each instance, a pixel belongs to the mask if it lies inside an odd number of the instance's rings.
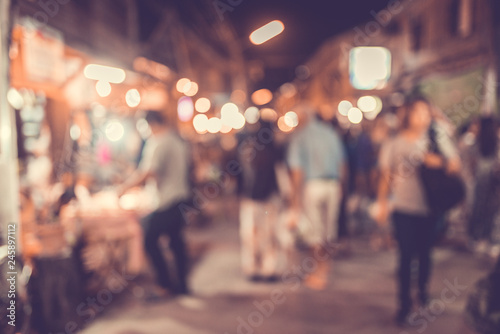
[{"label": "person in light blue shirt and pale trousers, seen from behind", "polygon": [[[338,218],[342,184],[346,180],[346,157],[340,135],[321,122],[307,103],[295,107],[299,129],[288,149],[287,162],[293,184],[293,221],[304,215],[309,222],[305,241],[313,256],[325,246],[338,241]],[[315,271],[306,278],[310,288],[322,290],[327,283],[329,265],[318,261]]]}]

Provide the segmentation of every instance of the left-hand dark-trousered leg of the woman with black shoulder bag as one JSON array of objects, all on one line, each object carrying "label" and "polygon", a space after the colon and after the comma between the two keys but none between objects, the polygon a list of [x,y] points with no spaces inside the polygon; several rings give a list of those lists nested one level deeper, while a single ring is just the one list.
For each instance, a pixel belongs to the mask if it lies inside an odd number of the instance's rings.
[{"label": "left-hand dark-trousered leg of the woman with black shoulder bag", "polygon": [[411,262],[415,249],[414,219],[412,216],[395,212],[393,214],[395,237],[399,246],[398,265],[398,321],[404,321],[411,309],[410,282]]}]

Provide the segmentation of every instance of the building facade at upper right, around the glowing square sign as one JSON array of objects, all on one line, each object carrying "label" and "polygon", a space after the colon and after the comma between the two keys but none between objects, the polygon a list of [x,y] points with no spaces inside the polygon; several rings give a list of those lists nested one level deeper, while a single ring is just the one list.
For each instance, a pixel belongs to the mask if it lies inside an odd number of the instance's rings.
[{"label": "building facade at upper right, around the glowing square sign", "polygon": [[[380,97],[397,106],[401,94],[418,90],[456,124],[496,108],[497,60],[492,2],[489,0],[390,1],[365,22],[326,42],[306,64],[310,79],[296,84],[302,96],[327,118],[340,101]],[[353,87],[351,50],[384,47],[392,64],[379,89]]]}]

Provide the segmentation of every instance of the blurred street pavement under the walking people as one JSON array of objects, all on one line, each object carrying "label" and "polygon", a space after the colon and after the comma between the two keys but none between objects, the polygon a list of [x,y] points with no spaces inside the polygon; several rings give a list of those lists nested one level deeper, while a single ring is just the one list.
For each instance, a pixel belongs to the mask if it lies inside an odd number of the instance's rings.
[{"label": "blurred street pavement under the walking people", "polygon": [[[239,263],[238,225],[224,214],[204,229],[190,229],[197,261],[192,295],[154,303],[150,286],[130,282],[106,302],[84,334],[472,334],[464,320],[467,296],[488,271],[472,254],[436,249],[430,309],[415,308],[413,326],[393,323],[396,311],[394,250],[375,252],[356,238],[350,256],[331,262],[329,282],[316,291],[292,272],[277,283],[245,280]],[[295,267],[314,265],[305,254]],[[309,259],[311,260],[311,259]]]}]

